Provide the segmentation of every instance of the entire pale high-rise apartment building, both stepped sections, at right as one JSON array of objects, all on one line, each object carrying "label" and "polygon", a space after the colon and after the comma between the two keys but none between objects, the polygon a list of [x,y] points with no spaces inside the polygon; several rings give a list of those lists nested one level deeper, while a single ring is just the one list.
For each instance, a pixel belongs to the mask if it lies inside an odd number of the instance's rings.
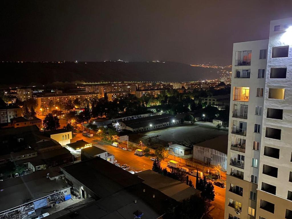
[{"label": "entire pale high-rise apartment building, both stepped sections, at right", "polygon": [[292,218],[290,26],[233,46],[225,219]]}]

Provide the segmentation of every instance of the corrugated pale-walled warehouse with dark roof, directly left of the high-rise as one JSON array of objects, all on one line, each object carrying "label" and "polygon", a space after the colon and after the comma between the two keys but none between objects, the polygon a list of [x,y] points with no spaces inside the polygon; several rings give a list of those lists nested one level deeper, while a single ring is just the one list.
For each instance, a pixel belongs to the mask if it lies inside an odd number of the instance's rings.
[{"label": "corrugated pale-walled warehouse with dark roof, directly left of the high-rise", "polygon": [[220,135],[193,145],[193,158],[201,161],[205,166],[220,165],[222,170],[227,169],[227,135]]}]

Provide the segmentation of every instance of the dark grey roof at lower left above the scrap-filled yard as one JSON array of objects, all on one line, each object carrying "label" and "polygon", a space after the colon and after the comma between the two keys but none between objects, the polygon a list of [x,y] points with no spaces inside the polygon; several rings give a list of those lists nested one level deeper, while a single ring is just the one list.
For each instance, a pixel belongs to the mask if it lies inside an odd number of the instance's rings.
[{"label": "dark grey roof at lower left above the scrap-filled yard", "polygon": [[60,168],[54,167],[49,170],[36,171],[28,175],[10,178],[0,181],[2,189],[0,195],[0,212],[20,206],[53,194],[53,191],[70,188],[65,180],[50,180],[47,174],[61,175]]}]

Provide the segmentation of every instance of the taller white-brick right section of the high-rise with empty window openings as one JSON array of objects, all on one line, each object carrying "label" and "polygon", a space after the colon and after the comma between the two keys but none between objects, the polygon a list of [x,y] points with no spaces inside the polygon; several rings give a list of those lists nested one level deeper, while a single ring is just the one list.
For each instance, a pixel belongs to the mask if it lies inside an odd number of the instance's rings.
[{"label": "taller white-brick right section of the high-rise with empty window openings", "polygon": [[257,218],[292,218],[292,18],[270,23]]}]

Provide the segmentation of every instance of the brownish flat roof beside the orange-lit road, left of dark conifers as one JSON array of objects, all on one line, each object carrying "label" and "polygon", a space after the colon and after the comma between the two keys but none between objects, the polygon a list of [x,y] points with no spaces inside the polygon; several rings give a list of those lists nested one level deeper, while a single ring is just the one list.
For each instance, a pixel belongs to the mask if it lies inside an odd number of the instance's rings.
[{"label": "brownish flat roof beside the orange-lit road, left of dark conifers", "polygon": [[182,201],[183,199],[189,198],[191,195],[200,194],[199,190],[152,170],[145,170],[135,173],[135,175],[138,175],[140,178],[145,180],[143,183],[146,185],[163,192],[176,201]]}]

